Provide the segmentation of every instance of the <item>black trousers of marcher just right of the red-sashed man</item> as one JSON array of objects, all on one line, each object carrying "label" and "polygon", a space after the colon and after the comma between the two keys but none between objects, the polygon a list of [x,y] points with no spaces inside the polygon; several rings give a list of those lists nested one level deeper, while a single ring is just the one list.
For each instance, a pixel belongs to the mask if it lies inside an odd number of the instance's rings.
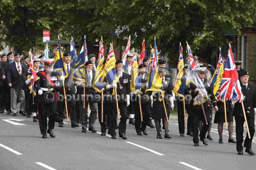
[{"label": "black trousers of marcher just right of the red-sashed man", "polygon": [[[61,94],[64,96],[64,93]],[[75,101],[75,94],[71,94],[71,92],[66,89],[66,97],[67,97],[67,107],[68,107],[68,116],[70,116],[71,124],[76,124],[76,101]],[[63,98],[64,99],[64,98]],[[63,122],[64,118],[64,111],[66,109],[65,107],[65,100],[58,101],[59,105],[59,115],[58,115],[58,121],[59,123]]]}]

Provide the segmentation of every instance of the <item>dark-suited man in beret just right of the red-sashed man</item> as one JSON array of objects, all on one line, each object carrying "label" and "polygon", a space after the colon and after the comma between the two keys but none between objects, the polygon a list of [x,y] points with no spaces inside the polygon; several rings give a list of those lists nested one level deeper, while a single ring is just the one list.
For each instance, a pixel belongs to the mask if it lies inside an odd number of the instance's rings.
[{"label": "dark-suited man in beret just right of the red-sashed man", "polygon": [[[72,74],[75,71],[75,65],[71,63],[71,54],[70,53],[64,53],[64,67],[68,72],[67,78],[65,78],[65,94],[68,97],[67,105],[68,105],[68,114],[71,118],[71,127],[79,127],[78,124],[76,124],[76,101],[75,101],[75,94],[76,94],[76,86],[73,82]],[[60,83],[63,85],[62,83]],[[63,87],[59,88],[59,92],[61,95],[64,96],[64,90]],[[59,127],[63,127],[63,118],[64,118],[64,111],[65,111],[65,101],[59,101],[60,104],[60,111],[59,111]]]}]

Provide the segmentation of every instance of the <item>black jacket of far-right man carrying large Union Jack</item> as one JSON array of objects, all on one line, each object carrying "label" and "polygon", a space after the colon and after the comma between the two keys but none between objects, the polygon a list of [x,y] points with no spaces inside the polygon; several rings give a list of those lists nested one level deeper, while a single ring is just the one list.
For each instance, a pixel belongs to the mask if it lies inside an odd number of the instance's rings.
[{"label": "black jacket of far-right man carrying large Union Jack", "polygon": [[[242,94],[245,96],[243,100],[243,105],[245,107],[245,113],[247,117],[254,118],[253,108],[256,108],[256,89],[251,84],[248,84],[247,89],[241,83]],[[243,116],[243,110],[241,103],[237,102],[234,104],[234,114],[235,116]]]}]

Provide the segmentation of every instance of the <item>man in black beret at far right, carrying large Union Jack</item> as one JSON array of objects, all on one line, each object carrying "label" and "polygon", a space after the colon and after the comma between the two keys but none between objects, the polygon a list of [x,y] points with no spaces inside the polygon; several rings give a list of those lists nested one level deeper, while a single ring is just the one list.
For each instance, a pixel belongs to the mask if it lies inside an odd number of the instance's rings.
[{"label": "man in black beret at far right, carrying large Union Jack", "polygon": [[249,126],[250,136],[249,139],[248,134],[245,138],[245,143],[243,143],[243,124],[245,123],[245,118],[243,117],[242,105],[237,102],[234,105],[234,116],[236,120],[236,138],[237,138],[237,154],[243,155],[243,147],[246,147],[245,152],[250,155],[255,155],[253,150],[251,150],[251,141],[255,132],[255,113],[256,113],[256,88],[251,84],[248,84],[249,81],[249,73],[243,70],[240,73],[240,82],[242,87],[242,94],[245,96],[243,99],[243,105],[245,108],[245,114],[247,118],[247,123]]}]

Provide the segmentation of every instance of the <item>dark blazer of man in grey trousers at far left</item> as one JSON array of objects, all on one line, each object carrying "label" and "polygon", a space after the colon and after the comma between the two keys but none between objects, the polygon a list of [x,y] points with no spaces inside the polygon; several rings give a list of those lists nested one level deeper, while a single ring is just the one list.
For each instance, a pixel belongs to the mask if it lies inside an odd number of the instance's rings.
[{"label": "dark blazer of man in grey trousers at far left", "polygon": [[23,88],[24,83],[27,79],[27,69],[26,65],[20,62],[22,74],[19,75],[18,70],[16,69],[16,62],[10,63],[7,67],[7,84],[11,83],[11,88]]}]

